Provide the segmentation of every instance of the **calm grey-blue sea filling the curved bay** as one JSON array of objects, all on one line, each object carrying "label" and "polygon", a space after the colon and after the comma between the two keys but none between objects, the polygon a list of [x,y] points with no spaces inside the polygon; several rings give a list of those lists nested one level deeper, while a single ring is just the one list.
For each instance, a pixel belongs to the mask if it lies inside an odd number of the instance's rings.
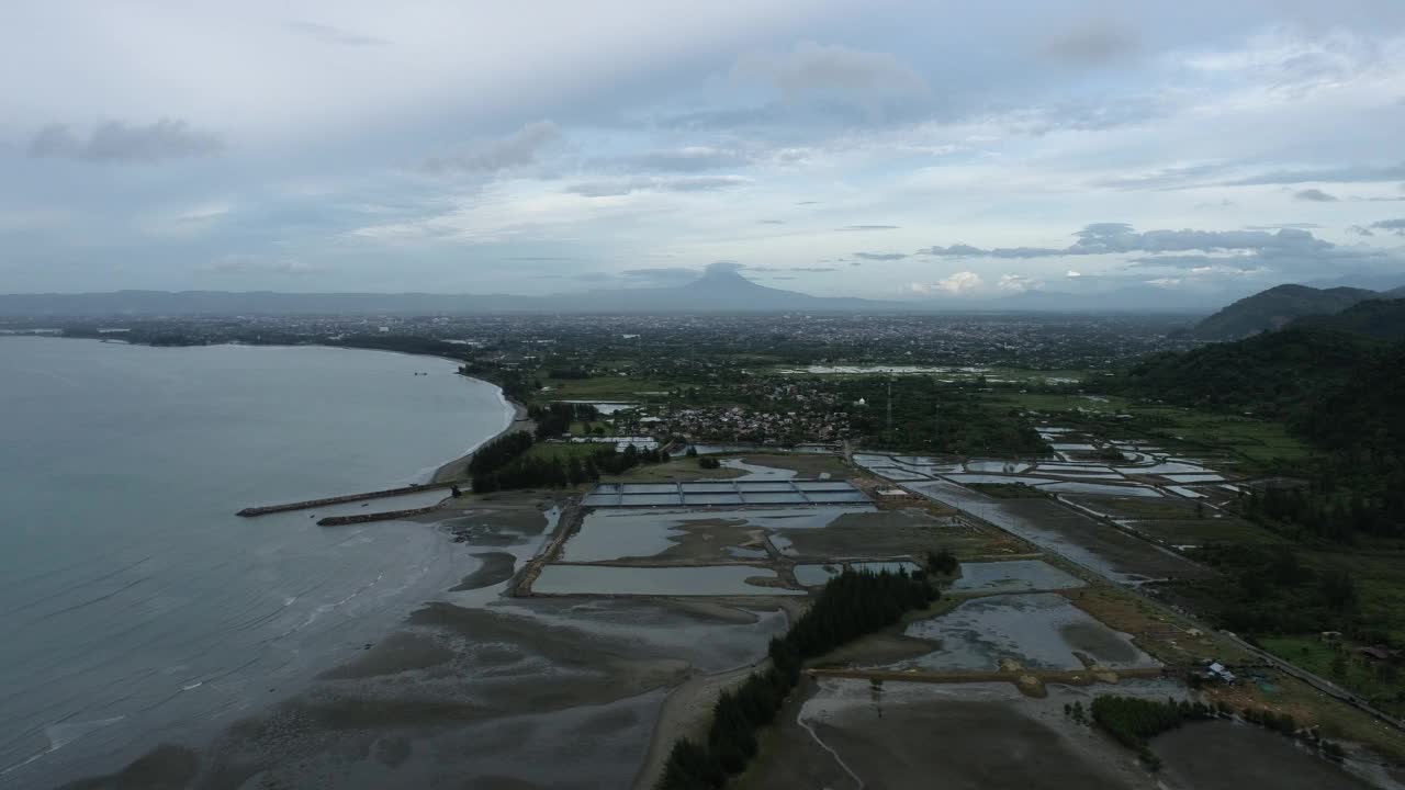
[{"label": "calm grey-blue sea filling the curved bay", "polygon": [[0,786],[194,745],[381,637],[462,575],[434,527],[233,513],[420,482],[510,420],[445,360],[0,337]]}]

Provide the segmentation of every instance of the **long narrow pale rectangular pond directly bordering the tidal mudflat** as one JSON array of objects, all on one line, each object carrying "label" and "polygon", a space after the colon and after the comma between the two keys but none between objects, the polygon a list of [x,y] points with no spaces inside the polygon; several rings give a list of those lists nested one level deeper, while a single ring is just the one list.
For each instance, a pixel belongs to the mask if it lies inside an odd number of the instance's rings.
[{"label": "long narrow pale rectangular pond directly bordering the tidal mudflat", "polygon": [[[752,583],[763,582],[763,583]],[[805,595],[780,586],[770,568],[704,565],[691,568],[621,568],[615,565],[547,565],[534,595],[774,596]]]}]

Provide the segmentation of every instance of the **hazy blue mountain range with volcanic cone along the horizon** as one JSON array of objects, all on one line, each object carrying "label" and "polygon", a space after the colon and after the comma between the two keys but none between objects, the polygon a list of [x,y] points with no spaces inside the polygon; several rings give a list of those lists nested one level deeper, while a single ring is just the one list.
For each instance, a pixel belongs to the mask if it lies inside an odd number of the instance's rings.
[{"label": "hazy blue mountain range with volcanic cone along the horizon", "polygon": [[[1280,288],[1318,292],[1305,285]],[[1277,291],[1273,288],[1266,294]],[[1374,291],[1352,291],[1361,298]],[[1259,294],[1243,304],[1263,297]],[[1269,299],[1277,304],[1283,299]],[[1291,302],[1293,299],[1286,299]],[[1329,308],[1264,306],[1250,312],[1264,318],[1211,323],[1207,339],[1231,339],[1270,329],[1293,318],[1335,312],[1360,301],[1338,297]],[[551,297],[510,294],[281,294],[274,291],[114,291],[94,294],[0,294],[0,316],[191,316],[191,315],[500,315],[500,313],[726,313],[726,312],[1161,312],[1204,315],[1224,302],[1198,292],[1135,285],[1102,294],[1026,291],[993,299],[960,297],[880,301],[851,297],[812,297],[760,285],[726,268],[710,268],[698,280],[669,288],[593,290]],[[1325,304],[1325,302],[1324,302]],[[1227,308],[1232,309],[1232,308]],[[1224,311],[1222,311],[1224,312]],[[1279,319],[1283,320],[1279,320]],[[1214,320],[1214,316],[1207,320]],[[1197,336],[1198,335],[1197,329]]]}]

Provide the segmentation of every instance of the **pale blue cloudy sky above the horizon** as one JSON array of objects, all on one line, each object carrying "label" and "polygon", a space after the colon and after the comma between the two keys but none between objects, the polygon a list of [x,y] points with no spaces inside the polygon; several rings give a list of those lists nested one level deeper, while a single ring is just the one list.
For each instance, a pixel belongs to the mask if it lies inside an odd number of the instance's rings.
[{"label": "pale blue cloudy sky above the horizon", "polygon": [[1401,0],[0,7],[0,292],[1405,284]]}]

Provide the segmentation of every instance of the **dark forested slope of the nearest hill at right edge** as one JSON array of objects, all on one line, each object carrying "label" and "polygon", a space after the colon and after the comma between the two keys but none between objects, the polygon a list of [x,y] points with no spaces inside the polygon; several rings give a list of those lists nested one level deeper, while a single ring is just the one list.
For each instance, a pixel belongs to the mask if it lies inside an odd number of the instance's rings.
[{"label": "dark forested slope of the nearest hill at right edge", "polygon": [[1120,382],[1128,395],[1283,420],[1316,448],[1293,470],[1309,485],[1250,498],[1249,517],[1318,540],[1405,537],[1405,342],[1295,326],[1152,357]]}]

